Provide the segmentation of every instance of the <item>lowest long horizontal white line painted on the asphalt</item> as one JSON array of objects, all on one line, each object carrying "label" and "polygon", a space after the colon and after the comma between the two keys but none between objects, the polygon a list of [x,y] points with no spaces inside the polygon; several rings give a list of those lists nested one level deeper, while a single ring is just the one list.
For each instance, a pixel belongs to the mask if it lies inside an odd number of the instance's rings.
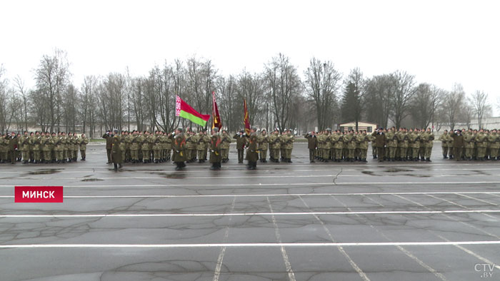
[{"label": "lowest long horizontal white line painted on the asphalt", "polygon": [[0,248],[47,248],[47,247],[375,247],[375,246],[454,246],[500,245],[500,240],[489,241],[436,241],[436,242],[310,242],[310,243],[205,243],[205,244],[12,244]]}]

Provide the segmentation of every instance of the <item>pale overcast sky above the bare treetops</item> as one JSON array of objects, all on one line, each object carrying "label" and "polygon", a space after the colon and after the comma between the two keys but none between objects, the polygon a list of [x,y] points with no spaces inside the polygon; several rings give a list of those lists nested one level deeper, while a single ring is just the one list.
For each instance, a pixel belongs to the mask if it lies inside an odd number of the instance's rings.
[{"label": "pale overcast sky above the bare treetops", "polygon": [[[0,1],[0,63],[33,86],[41,56],[68,53],[84,76],[145,75],[196,55],[219,73],[263,69],[284,53],[302,73],[312,56],[342,73],[408,71],[418,82],[500,97],[500,1]],[[496,109],[496,108],[495,108]],[[496,110],[496,112],[498,112]]]}]

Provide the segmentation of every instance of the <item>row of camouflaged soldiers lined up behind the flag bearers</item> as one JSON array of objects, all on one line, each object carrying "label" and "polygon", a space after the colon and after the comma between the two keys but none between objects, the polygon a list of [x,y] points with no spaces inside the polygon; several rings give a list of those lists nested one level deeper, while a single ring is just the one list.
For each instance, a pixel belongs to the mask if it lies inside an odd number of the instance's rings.
[{"label": "row of camouflaged soldiers lined up behind the flag bearers", "polygon": [[[207,150],[211,143],[211,137],[208,136],[206,131],[187,131],[182,133],[184,137],[184,150],[187,163],[193,163],[198,160],[199,163],[204,163],[207,160]],[[229,161],[229,145],[231,143],[231,136],[226,130],[217,133],[220,137],[219,149],[221,150],[221,163]],[[119,138],[119,149],[121,159],[124,163],[164,163],[171,160],[171,153],[173,150],[173,141],[175,133],[165,133],[162,131],[155,131],[149,133],[148,131],[121,131],[119,134],[107,131],[102,138],[106,139],[106,150],[108,162],[112,162],[112,143],[114,137]],[[236,150],[238,151],[238,162],[242,163],[244,160],[244,150],[249,147],[249,134],[240,131],[232,136],[236,140]],[[269,150],[270,160],[272,162],[291,163],[291,150],[293,149],[294,136],[290,130],[279,133],[276,129],[271,135],[266,134],[266,130],[256,135],[257,151],[259,153],[259,160],[261,163],[266,163],[267,151]],[[280,157],[281,155],[281,157]]]}]

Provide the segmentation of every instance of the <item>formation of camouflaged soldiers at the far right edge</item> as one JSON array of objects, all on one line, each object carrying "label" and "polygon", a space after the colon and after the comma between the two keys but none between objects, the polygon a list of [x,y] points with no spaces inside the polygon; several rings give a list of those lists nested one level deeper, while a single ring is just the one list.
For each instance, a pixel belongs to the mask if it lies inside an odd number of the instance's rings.
[{"label": "formation of camouflaged soldiers at the far right edge", "polygon": [[456,160],[500,160],[500,133],[494,130],[444,131],[439,137],[443,158]]}]

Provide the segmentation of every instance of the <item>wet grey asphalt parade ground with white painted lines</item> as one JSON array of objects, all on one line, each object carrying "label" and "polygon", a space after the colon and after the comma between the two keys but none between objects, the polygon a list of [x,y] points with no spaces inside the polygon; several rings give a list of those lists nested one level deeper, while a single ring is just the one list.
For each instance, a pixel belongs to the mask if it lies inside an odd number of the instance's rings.
[{"label": "wet grey asphalt parade ground with white painted lines", "polygon": [[[500,280],[500,161],[0,165],[0,280]],[[63,185],[64,203],[14,203]]]}]

